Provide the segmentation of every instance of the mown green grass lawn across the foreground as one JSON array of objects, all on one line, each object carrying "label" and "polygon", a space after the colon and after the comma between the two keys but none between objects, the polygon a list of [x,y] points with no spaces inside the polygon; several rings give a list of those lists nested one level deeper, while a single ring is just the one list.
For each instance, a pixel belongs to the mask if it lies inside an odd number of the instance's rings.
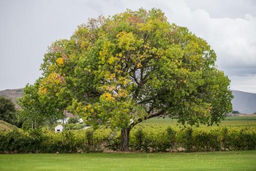
[{"label": "mown green grass lawn across the foreground", "polygon": [[256,170],[256,151],[0,155],[0,170]]}]

